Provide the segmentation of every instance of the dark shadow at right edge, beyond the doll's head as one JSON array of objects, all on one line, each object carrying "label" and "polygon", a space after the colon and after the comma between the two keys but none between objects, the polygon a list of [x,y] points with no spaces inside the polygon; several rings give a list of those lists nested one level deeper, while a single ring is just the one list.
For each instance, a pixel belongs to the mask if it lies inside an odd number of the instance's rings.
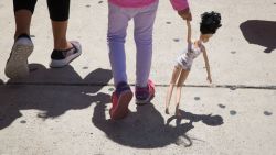
[{"label": "dark shadow at right edge, beyond the doll's head", "polygon": [[248,20],[240,25],[240,29],[250,44],[266,47],[265,53],[272,53],[276,48],[276,22]]}]

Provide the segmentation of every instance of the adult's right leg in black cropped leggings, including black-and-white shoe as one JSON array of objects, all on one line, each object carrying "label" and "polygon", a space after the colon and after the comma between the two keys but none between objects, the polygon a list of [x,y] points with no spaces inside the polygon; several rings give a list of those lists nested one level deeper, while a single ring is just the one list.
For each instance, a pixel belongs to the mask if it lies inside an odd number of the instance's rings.
[{"label": "adult's right leg in black cropped leggings, including black-and-white shoe", "polygon": [[51,55],[51,67],[64,67],[82,54],[81,44],[66,38],[70,0],[47,0],[52,21],[54,49]]}]

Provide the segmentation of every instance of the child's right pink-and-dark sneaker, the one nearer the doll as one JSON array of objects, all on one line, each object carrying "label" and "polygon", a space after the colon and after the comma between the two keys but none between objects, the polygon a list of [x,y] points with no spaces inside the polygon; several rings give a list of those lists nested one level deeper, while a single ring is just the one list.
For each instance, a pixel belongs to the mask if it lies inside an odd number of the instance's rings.
[{"label": "child's right pink-and-dark sneaker, the one nearer the doll", "polygon": [[155,98],[155,84],[150,79],[148,80],[147,87],[136,87],[135,97],[137,104],[146,104],[149,103]]}]

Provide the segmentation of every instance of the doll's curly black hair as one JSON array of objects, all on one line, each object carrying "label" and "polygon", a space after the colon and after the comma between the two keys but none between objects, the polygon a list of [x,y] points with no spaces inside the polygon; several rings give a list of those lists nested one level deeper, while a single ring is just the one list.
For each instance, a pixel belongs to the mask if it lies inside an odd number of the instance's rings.
[{"label": "doll's curly black hair", "polygon": [[217,12],[204,12],[201,14],[200,32],[201,34],[214,34],[221,27],[221,14]]}]

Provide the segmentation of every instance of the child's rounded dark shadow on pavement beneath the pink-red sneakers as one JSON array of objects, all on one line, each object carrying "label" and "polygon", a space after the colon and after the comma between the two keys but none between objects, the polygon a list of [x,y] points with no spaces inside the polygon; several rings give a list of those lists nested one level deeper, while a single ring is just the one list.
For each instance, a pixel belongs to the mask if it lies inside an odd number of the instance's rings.
[{"label": "child's rounded dark shadow on pavement beneath the pink-red sneakers", "polygon": [[112,141],[137,148],[156,148],[170,144],[191,146],[192,141],[187,135],[193,125],[191,123],[171,126],[164,124],[164,119],[152,103],[138,106],[124,120],[107,119],[108,109],[105,103],[97,103],[92,118],[93,124],[102,130]]}]

